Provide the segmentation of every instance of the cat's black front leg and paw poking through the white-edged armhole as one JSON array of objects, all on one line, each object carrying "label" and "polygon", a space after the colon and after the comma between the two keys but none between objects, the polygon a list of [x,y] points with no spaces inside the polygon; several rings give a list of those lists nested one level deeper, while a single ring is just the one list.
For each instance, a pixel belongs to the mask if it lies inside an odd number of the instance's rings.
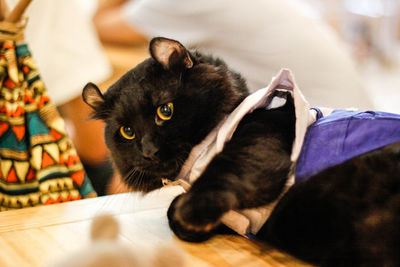
[{"label": "cat's black front leg and paw poking through the white-edged armhole", "polygon": [[226,212],[279,197],[292,165],[294,112],[286,109],[256,110],[245,117],[188,193],[172,202],[168,219],[179,238],[205,240]]}]

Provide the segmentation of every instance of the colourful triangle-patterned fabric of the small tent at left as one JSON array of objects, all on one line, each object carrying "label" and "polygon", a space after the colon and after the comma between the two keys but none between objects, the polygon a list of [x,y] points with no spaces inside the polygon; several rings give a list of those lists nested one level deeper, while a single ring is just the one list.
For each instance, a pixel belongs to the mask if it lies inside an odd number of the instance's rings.
[{"label": "colourful triangle-patterned fabric of the small tent at left", "polygon": [[0,47],[0,210],[96,196],[27,45]]}]

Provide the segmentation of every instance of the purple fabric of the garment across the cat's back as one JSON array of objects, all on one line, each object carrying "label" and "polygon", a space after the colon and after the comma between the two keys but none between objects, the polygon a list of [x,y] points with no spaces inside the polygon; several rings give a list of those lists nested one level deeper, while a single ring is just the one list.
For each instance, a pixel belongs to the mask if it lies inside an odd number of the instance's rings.
[{"label": "purple fabric of the garment across the cat's back", "polygon": [[395,142],[400,142],[400,115],[335,110],[308,127],[295,181]]}]

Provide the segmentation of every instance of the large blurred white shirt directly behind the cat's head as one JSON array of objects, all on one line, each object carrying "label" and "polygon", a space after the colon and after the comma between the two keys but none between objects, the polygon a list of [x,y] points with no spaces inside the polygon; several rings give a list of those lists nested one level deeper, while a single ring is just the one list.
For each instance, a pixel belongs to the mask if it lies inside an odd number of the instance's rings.
[{"label": "large blurred white shirt directly behind the cat's head", "polygon": [[223,58],[251,91],[289,68],[313,106],[373,108],[333,31],[285,0],[134,0],[122,15],[149,38],[176,39]]}]

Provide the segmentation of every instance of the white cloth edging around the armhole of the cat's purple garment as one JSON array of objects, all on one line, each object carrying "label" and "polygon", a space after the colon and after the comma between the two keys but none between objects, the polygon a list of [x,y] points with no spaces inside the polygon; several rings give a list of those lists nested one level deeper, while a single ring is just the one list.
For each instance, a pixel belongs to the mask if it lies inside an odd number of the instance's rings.
[{"label": "white cloth edging around the armhole of the cat's purple garment", "polygon": [[[297,161],[307,128],[316,120],[316,112],[310,110],[310,105],[297,87],[291,72],[283,69],[272,79],[266,88],[260,89],[244,99],[200,144],[192,149],[177,177],[177,180],[181,181],[181,185],[185,190],[189,190],[190,185],[200,177],[212,159],[223,150],[224,145],[231,139],[237,126],[246,114],[258,108],[277,108],[286,103],[286,101],[281,101],[281,99],[274,101],[275,98],[271,102],[268,102],[270,96],[276,90],[287,91],[294,99],[296,138],[293,142],[291,161]],[[332,112],[332,109],[323,108],[322,112],[326,116]],[[281,196],[294,184],[294,174],[289,175]],[[256,234],[268,219],[279,199],[257,209],[231,210],[223,216],[222,222],[241,235],[247,235],[248,233]]]}]

